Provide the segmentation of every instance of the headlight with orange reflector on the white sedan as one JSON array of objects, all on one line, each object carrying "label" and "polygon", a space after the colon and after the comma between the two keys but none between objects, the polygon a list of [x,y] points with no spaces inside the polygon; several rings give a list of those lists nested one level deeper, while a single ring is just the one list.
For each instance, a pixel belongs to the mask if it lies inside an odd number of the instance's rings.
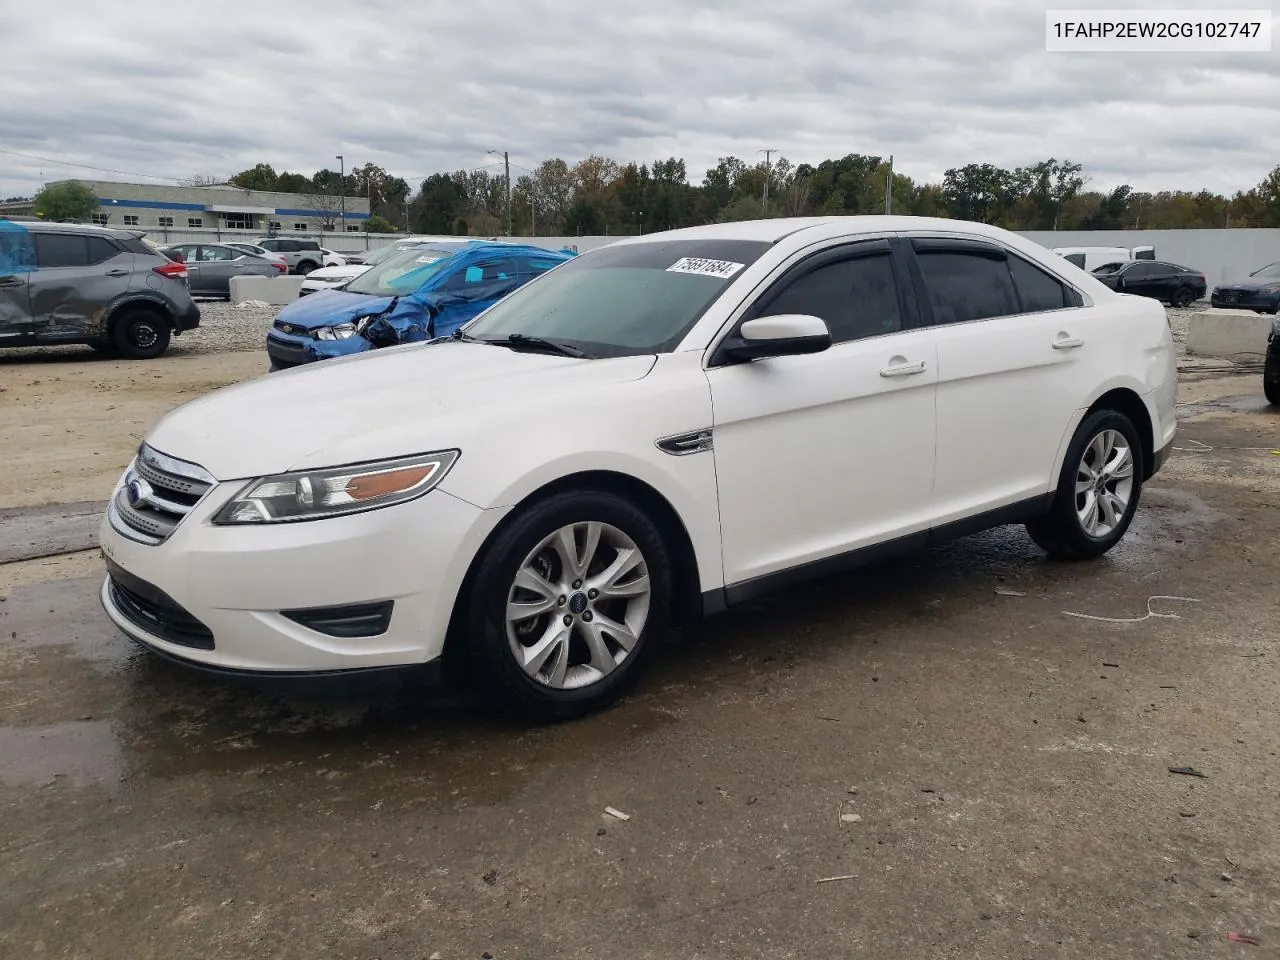
[{"label": "headlight with orange reflector on the white sedan", "polygon": [[329,470],[306,470],[253,480],[218,511],[214,524],[284,524],[362,513],[421,497],[457,461],[442,451]]}]

